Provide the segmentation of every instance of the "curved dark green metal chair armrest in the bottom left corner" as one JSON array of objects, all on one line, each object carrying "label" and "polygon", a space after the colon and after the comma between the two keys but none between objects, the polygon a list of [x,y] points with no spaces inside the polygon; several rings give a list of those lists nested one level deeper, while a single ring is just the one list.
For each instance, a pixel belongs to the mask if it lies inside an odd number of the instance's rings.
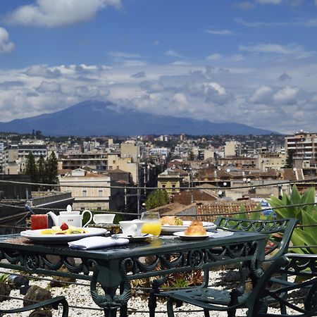
[{"label": "curved dark green metal chair armrest in the bottom left corner", "polygon": [[68,316],[68,302],[63,296],[47,299],[46,301],[28,305],[25,307],[20,307],[18,309],[0,309],[0,316],[4,316],[4,315],[11,316],[12,313],[22,313],[23,311],[32,311],[34,309],[39,309],[46,306],[51,306],[53,307],[53,309],[58,309],[59,304],[63,306],[62,317],[67,317]]}]

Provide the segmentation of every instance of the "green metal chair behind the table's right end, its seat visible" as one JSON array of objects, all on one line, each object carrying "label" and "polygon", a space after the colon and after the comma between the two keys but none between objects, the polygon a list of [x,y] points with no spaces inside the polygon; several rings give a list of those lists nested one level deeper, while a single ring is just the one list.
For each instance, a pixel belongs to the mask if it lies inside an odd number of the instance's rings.
[{"label": "green metal chair behind the table's right end, its seat visible", "polygon": [[[219,217],[215,221],[217,229],[231,232],[259,232],[260,234],[267,235],[267,247],[265,250],[266,258],[264,259],[264,262],[274,261],[287,253],[292,232],[297,223],[298,220],[292,218],[282,220],[242,220]],[[204,308],[206,317],[209,316],[208,307],[210,303],[226,306],[227,309],[221,310],[228,311],[229,317],[235,316],[235,309],[233,308],[235,305],[233,304],[237,304],[238,300],[241,301],[247,296],[247,294],[245,294],[245,276],[243,271],[243,267],[247,266],[247,264],[249,263],[239,263],[240,286],[231,292],[219,291],[215,290],[213,287],[209,287],[209,270],[204,270],[204,282],[202,285],[190,289],[160,292],[159,287],[155,285],[154,281],[154,290],[149,296],[149,316],[155,316],[156,297],[176,299],[178,306],[180,306],[181,302],[194,304],[198,301],[201,303],[200,306]],[[204,302],[206,302],[206,306],[204,306]],[[231,309],[228,309],[228,307],[231,307]]]}]

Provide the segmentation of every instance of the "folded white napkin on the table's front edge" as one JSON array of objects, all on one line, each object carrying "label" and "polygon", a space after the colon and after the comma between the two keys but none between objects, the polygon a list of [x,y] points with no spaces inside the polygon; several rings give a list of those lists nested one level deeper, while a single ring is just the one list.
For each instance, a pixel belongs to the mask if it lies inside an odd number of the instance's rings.
[{"label": "folded white napkin on the table's front edge", "polygon": [[105,247],[113,247],[116,245],[124,245],[128,244],[128,239],[118,238],[112,239],[111,237],[85,237],[80,240],[68,242],[68,245],[74,249],[98,249],[98,248],[105,248]]}]

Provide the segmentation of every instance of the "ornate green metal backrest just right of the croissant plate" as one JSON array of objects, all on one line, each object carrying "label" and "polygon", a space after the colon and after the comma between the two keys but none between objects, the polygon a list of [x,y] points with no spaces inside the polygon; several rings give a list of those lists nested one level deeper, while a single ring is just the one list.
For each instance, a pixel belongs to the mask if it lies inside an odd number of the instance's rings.
[{"label": "ornate green metal backrest just right of the croissant plate", "polygon": [[218,217],[215,221],[218,229],[233,232],[259,232],[268,235],[265,261],[273,261],[287,253],[292,232],[298,223],[297,219],[249,220]]}]

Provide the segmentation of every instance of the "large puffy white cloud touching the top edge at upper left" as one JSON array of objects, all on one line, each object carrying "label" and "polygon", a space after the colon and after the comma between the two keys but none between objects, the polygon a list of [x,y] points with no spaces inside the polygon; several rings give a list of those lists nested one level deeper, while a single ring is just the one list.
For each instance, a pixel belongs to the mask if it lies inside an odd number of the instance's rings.
[{"label": "large puffy white cloud touching the top edge at upper left", "polygon": [[106,6],[120,8],[120,0],[37,0],[8,13],[4,20],[13,25],[61,27],[94,18]]}]

